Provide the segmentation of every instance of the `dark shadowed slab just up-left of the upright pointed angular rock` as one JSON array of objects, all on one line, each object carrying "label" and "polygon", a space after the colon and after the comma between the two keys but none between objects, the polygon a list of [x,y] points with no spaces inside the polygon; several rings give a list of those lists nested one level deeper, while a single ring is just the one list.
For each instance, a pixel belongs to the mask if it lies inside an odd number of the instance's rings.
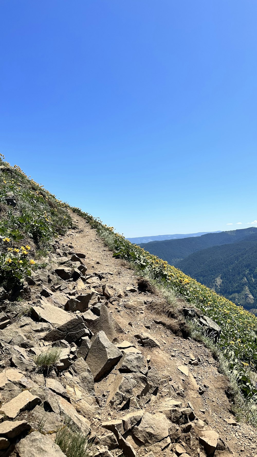
[{"label": "dark shadowed slab just up-left of the upright pointed angular rock", "polygon": [[69,313],[66,314],[71,316],[71,319],[67,323],[50,330],[44,336],[45,341],[66,340],[68,343],[72,343],[79,340],[82,336],[91,336],[91,332],[86,328],[81,316],[73,317]]}]

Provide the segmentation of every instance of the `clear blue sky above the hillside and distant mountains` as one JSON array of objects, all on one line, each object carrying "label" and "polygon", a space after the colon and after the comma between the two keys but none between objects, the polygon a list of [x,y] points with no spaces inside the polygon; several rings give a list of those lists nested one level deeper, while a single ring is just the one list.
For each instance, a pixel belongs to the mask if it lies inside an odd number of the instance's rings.
[{"label": "clear blue sky above the hillside and distant mountains", "polygon": [[2,0],[0,152],[127,237],[257,225],[256,19],[253,0]]}]

